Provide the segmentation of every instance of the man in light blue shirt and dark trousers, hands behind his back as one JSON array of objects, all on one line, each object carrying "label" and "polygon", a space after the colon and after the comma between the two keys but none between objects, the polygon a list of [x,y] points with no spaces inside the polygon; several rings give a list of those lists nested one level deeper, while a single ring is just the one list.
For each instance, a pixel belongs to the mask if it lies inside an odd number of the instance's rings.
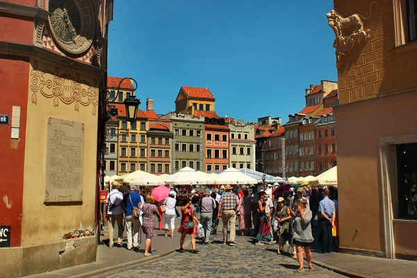
[{"label": "man in light blue shirt and dark trousers, hands behind his back", "polygon": [[336,209],[334,202],[329,199],[330,190],[325,188],[323,190],[324,198],[318,205],[318,225],[322,234],[322,253],[331,253],[333,245],[332,227],[334,227],[334,220],[336,218]]}]

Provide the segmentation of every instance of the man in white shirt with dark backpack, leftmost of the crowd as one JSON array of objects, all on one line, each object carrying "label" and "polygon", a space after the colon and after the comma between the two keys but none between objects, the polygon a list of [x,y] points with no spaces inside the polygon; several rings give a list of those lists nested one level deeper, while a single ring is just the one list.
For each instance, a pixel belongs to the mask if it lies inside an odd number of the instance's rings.
[{"label": "man in white shirt with dark backpack, leftmost of the crowd", "polygon": [[119,191],[120,184],[117,181],[113,181],[111,193],[108,194],[106,199],[106,210],[108,216],[108,247],[113,248],[113,231],[115,229],[115,222],[117,222],[117,245],[122,246],[123,237],[123,194]]}]

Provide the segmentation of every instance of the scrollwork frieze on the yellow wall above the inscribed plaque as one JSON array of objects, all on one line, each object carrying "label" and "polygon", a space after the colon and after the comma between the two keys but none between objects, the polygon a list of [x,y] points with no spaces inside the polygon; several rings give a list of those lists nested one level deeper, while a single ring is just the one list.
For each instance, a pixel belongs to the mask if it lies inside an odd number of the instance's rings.
[{"label": "scrollwork frieze on the yellow wall above the inscribed plaque", "polygon": [[94,79],[94,85],[88,81],[81,80],[80,74],[65,72],[56,66],[54,72],[48,69],[38,69],[38,61],[32,63],[30,74],[30,90],[32,92],[32,104],[38,104],[38,95],[48,99],[54,99],[54,107],[60,103],[74,104],[74,111],[79,111],[81,106],[92,106],[92,115],[97,113],[97,104],[99,88],[97,88],[97,79]]}]

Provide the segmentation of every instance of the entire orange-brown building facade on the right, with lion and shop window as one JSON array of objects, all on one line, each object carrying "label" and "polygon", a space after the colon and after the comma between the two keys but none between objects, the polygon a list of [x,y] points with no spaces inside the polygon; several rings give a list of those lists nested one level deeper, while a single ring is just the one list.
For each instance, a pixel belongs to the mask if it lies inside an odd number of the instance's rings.
[{"label": "entire orange-brown building facade on the right, with lion and shop window", "polygon": [[[334,0],[334,7],[327,18],[338,67],[341,250],[416,259],[417,1]],[[353,17],[357,32],[336,24]]]}]

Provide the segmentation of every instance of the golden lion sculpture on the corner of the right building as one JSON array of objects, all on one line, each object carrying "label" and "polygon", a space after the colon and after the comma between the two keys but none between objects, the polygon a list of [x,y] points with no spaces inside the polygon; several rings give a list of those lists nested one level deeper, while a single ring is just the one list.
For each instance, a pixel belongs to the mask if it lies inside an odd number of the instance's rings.
[{"label": "golden lion sculpture on the corner of the right building", "polygon": [[372,17],[372,6],[377,5],[377,2],[370,4],[371,10],[368,17],[363,17],[355,13],[350,17],[343,17],[336,10],[331,10],[327,13],[327,22],[333,29],[336,39],[334,40],[333,47],[336,48],[336,65],[340,67],[341,58],[354,47],[354,44],[369,39],[370,29],[363,29],[362,20],[367,20]]}]

